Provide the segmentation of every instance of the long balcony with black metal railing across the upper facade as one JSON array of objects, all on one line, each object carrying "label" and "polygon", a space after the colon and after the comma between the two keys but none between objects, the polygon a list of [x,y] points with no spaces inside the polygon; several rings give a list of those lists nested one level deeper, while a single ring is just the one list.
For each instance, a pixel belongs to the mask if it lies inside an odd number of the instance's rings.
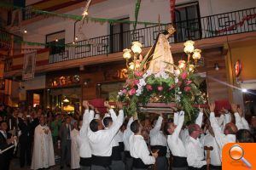
[{"label": "long balcony with black metal railing across the upper facade", "polygon": [[[170,37],[171,43],[256,31],[256,8],[178,21],[175,26],[177,31]],[[129,48],[134,41],[142,42],[143,47],[147,48],[154,44],[159,28],[160,31],[165,30],[163,25],[150,26],[136,31],[125,31],[122,34],[94,37],[75,44],[67,43],[65,48],[57,50],[61,51],[60,53],[49,54],[49,64],[121,52],[124,48]]]}]

